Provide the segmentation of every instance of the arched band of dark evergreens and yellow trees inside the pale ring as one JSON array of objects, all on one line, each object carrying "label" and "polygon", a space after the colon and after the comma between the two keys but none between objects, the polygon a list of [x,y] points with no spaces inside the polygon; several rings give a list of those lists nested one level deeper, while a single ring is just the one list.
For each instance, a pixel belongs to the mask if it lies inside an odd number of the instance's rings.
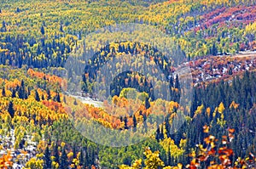
[{"label": "arched band of dark evergreens and yellow trees inside the pale ring", "polygon": [[[175,92],[174,88],[179,90],[180,85],[177,76],[172,75],[174,72],[173,62],[177,64],[177,60],[179,60],[175,57],[182,59],[181,55],[176,54],[173,54],[172,60],[167,59],[157,48],[152,48],[140,42],[120,42],[107,45],[94,54],[93,57],[89,59],[88,64],[85,65],[82,89],[84,92],[92,93],[93,88],[90,88],[90,86],[96,87],[95,82],[101,82],[97,81],[97,79],[103,79],[106,73],[108,73],[108,75],[110,75],[110,73],[115,75],[112,71],[105,72],[106,70],[104,71],[104,69],[102,69],[102,66],[107,66],[110,68],[113,67],[112,70],[120,72],[119,75],[113,76],[113,82],[110,84],[111,96],[119,95],[124,87],[133,87],[139,92],[148,93],[148,97],[152,100],[158,99],[154,97],[154,87],[152,83],[153,81],[157,81],[154,83],[160,84],[161,80],[154,80],[154,78],[163,75],[166,78],[166,82],[169,83],[169,88],[172,89],[172,93],[169,94],[172,95],[172,99],[178,100],[178,93]],[[112,63],[115,63],[115,59],[118,60],[118,63],[113,65]],[[129,70],[123,71],[122,67],[127,66],[125,65],[126,59],[134,60],[134,65],[131,65]],[[110,63],[108,61],[110,61]],[[143,75],[143,72],[145,75]],[[148,73],[150,74],[149,76],[147,75]],[[104,83],[105,82],[102,81],[102,83],[98,85],[104,86]],[[162,86],[162,84],[160,84],[160,86]],[[105,90],[103,90],[102,93],[108,94]],[[163,97],[166,98],[166,96]]]}]

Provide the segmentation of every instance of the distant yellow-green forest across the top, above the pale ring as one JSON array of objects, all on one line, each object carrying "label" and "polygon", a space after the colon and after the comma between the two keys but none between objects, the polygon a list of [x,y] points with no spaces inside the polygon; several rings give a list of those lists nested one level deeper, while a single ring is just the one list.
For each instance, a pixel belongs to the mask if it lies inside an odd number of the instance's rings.
[{"label": "distant yellow-green forest across the top, above the pale ring", "polygon": [[[46,3],[36,0],[33,5],[38,6],[37,10],[30,3],[13,2],[9,7],[3,3],[0,6],[0,63],[38,68],[63,66],[79,39],[91,31],[131,22],[154,25],[170,34],[188,58],[236,54],[240,50],[255,48],[252,28],[256,11],[253,1],[168,1],[151,3],[148,7],[131,3],[102,1],[103,5],[97,8],[94,8],[96,2],[47,3],[58,6],[64,13],[55,13],[53,8],[45,7]],[[26,11],[32,11],[28,17]]]}]

